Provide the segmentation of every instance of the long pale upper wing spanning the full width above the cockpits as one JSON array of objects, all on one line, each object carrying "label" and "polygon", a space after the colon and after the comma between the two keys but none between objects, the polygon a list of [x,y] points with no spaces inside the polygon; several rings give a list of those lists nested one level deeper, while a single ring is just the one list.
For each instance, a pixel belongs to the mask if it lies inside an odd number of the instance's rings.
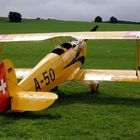
[{"label": "long pale upper wing spanning the full width above the cockpits", "polygon": [[140,31],[123,32],[66,32],[66,33],[32,33],[32,34],[3,34],[0,42],[41,41],[54,37],[71,36],[76,39],[140,39]]}]

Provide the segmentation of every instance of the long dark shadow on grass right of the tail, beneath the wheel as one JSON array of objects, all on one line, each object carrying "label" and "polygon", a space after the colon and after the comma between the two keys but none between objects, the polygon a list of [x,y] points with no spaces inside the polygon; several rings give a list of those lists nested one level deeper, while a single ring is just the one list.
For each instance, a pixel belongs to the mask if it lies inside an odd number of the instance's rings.
[{"label": "long dark shadow on grass right of the tail, beneath the wheel", "polygon": [[73,103],[87,103],[93,105],[125,105],[125,106],[133,106],[140,107],[140,98],[134,97],[118,97],[118,96],[108,96],[100,93],[72,93],[72,94],[64,94],[58,93],[59,99],[57,100],[58,105],[69,105]]}]

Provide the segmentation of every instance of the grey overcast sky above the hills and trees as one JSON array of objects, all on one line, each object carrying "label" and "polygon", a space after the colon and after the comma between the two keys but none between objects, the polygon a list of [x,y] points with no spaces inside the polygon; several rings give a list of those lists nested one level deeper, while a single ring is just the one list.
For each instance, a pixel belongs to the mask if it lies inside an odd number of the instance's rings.
[{"label": "grey overcast sky above the hills and trees", "polygon": [[24,18],[53,18],[92,21],[96,16],[109,20],[140,21],[140,0],[0,0],[0,16],[9,11]]}]

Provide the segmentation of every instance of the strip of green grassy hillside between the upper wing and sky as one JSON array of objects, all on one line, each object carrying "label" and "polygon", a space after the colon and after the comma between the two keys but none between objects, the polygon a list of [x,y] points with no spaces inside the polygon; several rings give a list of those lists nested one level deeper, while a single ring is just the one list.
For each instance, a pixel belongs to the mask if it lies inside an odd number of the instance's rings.
[{"label": "strip of green grassy hillside between the upper wing and sky", "polygon": [[23,19],[21,23],[10,23],[8,18],[0,17],[0,34],[5,33],[37,33],[37,32],[72,32],[89,31],[99,25],[98,31],[132,31],[140,30],[140,24],[95,23],[62,20]]}]

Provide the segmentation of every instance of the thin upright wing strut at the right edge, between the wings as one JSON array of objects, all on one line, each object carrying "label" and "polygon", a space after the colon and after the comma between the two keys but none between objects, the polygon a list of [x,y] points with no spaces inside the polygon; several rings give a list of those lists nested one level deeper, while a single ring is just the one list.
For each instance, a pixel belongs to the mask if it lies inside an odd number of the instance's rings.
[{"label": "thin upright wing strut at the right edge, between the wings", "polygon": [[136,40],[137,49],[136,49],[136,76],[140,78],[140,40]]}]

